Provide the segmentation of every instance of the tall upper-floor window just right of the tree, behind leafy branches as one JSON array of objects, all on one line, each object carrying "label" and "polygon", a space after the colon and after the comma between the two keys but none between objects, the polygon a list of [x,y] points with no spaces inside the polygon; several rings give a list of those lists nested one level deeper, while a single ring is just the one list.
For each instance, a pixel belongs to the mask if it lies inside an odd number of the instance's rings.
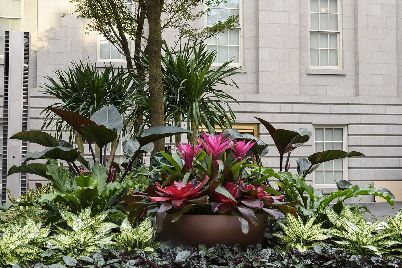
[{"label": "tall upper-floor window just right of the tree, behind leafy branches", "polygon": [[218,21],[225,21],[229,16],[239,16],[239,24],[236,28],[208,39],[208,50],[217,52],[215,63],[224,63],[233,59],[233,64],[242,64],[242,2],[243,0],[230,0],[218,6],[207,6],[211,10],[206,17],[207,27],[213,26]]}]

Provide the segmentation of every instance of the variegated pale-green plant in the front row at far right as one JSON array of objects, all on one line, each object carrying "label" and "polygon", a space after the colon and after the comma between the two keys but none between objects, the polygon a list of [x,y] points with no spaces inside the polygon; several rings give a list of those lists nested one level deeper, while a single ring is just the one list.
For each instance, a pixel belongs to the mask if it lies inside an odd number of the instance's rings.
[{"label": "variegated pale-green plant in the front row at far right", "polygon": [[395,231],[380,233],[376,230],[381,221],[369,224],[362,218],[363,213],[353,213],[345,204],[339,216],[329,207],[325,209],[325,213],[336,228],[328,230],[330,235],[338,237],[334,243],[350,250],[352,254],[362,256],[388,254],[392,251],[390,247],[402,244],[401,241],[389,239],[396,233]]}]

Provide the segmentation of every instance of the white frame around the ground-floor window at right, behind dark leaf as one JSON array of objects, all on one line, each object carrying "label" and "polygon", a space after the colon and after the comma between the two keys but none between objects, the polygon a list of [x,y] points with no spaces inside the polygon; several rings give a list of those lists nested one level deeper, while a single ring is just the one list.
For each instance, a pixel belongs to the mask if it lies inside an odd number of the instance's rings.
[{"label": "white frame around the ground-floor window at right, behind dark leaf", "polygon": [[[336,128],[336,129],[343,129],[343,151],[348,151],[348,131],[347,125],[320,125],[314,124],[313,125],[313,152],[316,152],[316,128]],[[325,149],[325,148],[324,148]],[[343,161],[343,180],[349,180],[349,159],[342,158]],[[324,164],[324,163],[323,163]],[[334,184],[317,184],[316,183],[316,172],[313,172],[313,187],[314,188],[337,188],[336,183]]]}]

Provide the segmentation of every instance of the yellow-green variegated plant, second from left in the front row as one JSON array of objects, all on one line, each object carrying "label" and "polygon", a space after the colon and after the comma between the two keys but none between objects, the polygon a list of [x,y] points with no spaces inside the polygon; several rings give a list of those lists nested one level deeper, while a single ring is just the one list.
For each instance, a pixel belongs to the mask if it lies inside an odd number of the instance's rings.
[{"label": "yellow-green variegated plant, second from left in the front row", "polygon": [[101,248],[113,247],[114,235],[109,235],[109,232],[119,226],[104,222],[109,214],[108,211],[91,217],[91,209],[88,207],[78,215],[68,211],[60,211],[60,214],[72,231],[57,227],[57,233],[46,239],[49,245],[48,252],[51,252],[55,259],[66,255],[74,258],[89,257],[100,252]]}]

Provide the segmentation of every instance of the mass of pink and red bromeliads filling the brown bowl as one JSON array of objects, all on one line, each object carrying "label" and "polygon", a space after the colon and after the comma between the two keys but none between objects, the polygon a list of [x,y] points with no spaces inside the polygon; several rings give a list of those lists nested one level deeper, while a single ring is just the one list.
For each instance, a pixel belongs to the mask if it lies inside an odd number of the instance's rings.
[{"label": "mass of pink and red bromeliads filling the brown bowl", "polygon": [[248,151],[255,140],[230,139],[228,135],[202,133],[197,145],[178,144],[177,153],[161,152],[169,165],[160,166],[159,176],[144,192],[134,192],[119,198],[126,203],[125,211],[134,221],[147,211],[156,211],[158,231],[166,213],[172,213],[172,222],[183,213],[236,215],[243,233],[249,225],[258,224],[256,213],[285,217],[296,209],[297,202],[283,202],[284,195],[271,195],[264,185],[275,173],[272,169],[250,162]]}]

